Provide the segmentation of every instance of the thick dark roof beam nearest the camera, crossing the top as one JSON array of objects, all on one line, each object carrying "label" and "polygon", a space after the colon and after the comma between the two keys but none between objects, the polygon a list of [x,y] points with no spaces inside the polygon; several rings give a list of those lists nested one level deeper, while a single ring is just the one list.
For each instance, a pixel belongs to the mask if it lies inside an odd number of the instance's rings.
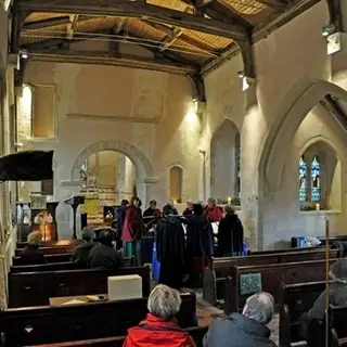
[{"label": "thick dark roof beam nearest the camera, crossing the top", "polygon": [[145,18],[234,40],[246,40],[247,37],[247,31],[242,25],[196,17],[185,12],[144,2],[99,0],[95,3],[92,0],[17,0],[13,11]]}]

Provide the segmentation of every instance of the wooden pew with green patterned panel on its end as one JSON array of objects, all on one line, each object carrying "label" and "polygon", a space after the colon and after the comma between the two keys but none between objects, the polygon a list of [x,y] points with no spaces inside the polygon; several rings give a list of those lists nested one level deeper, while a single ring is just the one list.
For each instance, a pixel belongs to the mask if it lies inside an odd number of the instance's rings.
[{"label": "wooden pew with green patterned panel on its end", "polygon": [[[334,264],[336,259],[331,259]],[[282,283],[294,284],[316,282],[325,279],[325,260],[285,262],[266,266],[232,267],[231,275],[226,280],[224,313],[241,311],[247,297],[241,295],[240,279],[247,274],[260,274],[261,291],[272,294],[277,304],[281,303]]]}]

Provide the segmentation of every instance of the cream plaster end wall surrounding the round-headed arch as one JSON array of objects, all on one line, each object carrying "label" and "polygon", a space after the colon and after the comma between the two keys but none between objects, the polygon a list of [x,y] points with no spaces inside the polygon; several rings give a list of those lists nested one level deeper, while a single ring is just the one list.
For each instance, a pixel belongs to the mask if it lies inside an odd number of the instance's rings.
[{"label": "cream plaster end wall surrounding the round-headed arch", "polygon": [[[194,113],[188,78],[115,66],[33,62],[26,69],[25,82],[56,87],[57,138],[47,141],[28,138],[24,144],[54,150],[59,201],[76,190],[74,182],[67,184],[70,189],[61,184],[75,179],[72,170],[80,153],[87,149],[86,154],[90,155],[90,145],[100,141],[102,145],[107,140],[120,143],[124,154],[129,154],[141,171],[142,180],[154,181],[147,184],[147,201],[156,198],[160,205],[167,201],[168,172],[174,164],[184,168],[184,196],[197,197],[201,124]],[[138,152],[141,158],[133,154]],[[141,166],[144,162],[146,167]],[[145,171],[151,171],[157,182],[145,177]],[[127,176],[126,182],[132,181],[130,171]],[[61,204],[61,229],[68,229],[67,214],[70,211]]]}]

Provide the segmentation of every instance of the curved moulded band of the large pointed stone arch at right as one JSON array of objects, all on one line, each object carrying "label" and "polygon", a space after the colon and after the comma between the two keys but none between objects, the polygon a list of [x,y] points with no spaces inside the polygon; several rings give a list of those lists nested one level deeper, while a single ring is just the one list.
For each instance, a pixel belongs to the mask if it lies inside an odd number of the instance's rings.
[{"label": "curved moulded band of the large pointed stone arch at right", "polygon": [[[321,79],[304,79],[297,82],[280,102],[272,119],[274,123],[262,147],[259,160],[259,184],[275,191],[284,169],[285,149],[291,145],[300,123],[325,95],[347,101],[347,92],[336,85]],[[275,168],[275,169],[274,169]]]}]

